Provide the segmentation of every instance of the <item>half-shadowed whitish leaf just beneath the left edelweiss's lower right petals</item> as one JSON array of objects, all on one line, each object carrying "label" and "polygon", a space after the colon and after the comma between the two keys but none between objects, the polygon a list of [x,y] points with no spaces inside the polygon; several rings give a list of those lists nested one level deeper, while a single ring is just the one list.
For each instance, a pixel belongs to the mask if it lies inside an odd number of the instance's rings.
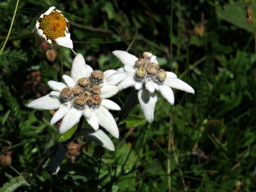
[{"label": "half-shadowed whitish leaf just beneath the left edelweiss's lower right petals", "polygon": [[78,134],[84,136],[87,140],[92,140],[98,143],[110,151],[115,150],[115,146],[111,139],[102,130],[93,131],[90,129],[82,129]]}]

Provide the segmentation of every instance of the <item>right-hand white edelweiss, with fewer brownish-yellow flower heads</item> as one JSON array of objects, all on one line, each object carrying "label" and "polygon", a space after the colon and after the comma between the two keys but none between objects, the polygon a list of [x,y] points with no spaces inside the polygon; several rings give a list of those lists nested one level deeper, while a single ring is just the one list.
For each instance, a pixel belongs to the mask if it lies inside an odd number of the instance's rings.
[{"label": "right-hand white edelweiss, with fewer brownish-yellow flower heads", "polygon": [[174,94],[171,88],[195,93],[191,86],[178,79],[174,73],[165,72],[159,68],[156,56],[151,52],[144,52],[140,59],[125,51],[113,51],[112,53],[124,64],[124,68],[119,68],[117,71],[129,74],[118,84],[119,89],[123,90],[133,86],[139,90],[138,100],[148,122],[154,120],[154,108],[158,99],[155,90],[158,90],[172,105],[174,104]]}]

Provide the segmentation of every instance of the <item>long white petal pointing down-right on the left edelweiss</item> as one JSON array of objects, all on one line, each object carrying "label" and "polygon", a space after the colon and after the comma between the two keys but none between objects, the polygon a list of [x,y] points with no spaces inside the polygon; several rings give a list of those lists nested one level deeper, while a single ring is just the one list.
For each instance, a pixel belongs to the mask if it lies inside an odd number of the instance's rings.
[{"label": "long white petal pointing down-right on the left edelweiss", "polygon": [[98,120],[99,125],[105,128],[115,138],[119,138],[119,131],[116,125],[116,121],[114,120],[114,117],[110,114],[110,112],[103,106],[94,108],[93,111],[95,112],[95,116]]}]

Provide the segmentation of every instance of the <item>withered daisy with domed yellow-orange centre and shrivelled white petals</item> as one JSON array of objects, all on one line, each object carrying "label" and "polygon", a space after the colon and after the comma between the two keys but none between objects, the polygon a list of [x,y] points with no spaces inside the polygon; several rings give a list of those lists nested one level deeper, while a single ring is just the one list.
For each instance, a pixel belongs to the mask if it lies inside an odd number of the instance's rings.
[{"label": "withered daisy with domed yellow-orange centre and shrivelled white petals", "polygon": [[69,22],[61,14],[61,11],[54,10],[55,7],[50,7],[44,14],[36,20],[34,33],[38,45],[41,40],[46,42],[49,49],[58,49],[61,46],[73,48],[73,42],[70,39],[68,32]]}]

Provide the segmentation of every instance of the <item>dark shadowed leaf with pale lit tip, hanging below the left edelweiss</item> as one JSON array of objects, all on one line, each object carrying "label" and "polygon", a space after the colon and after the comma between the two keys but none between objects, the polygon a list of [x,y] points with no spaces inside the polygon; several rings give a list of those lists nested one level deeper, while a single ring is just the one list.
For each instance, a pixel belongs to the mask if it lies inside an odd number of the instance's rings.
[{"label": "dark shadowed leaf with pale lit tip, hanging below the left edelweiss", "polygon": [[56,143],[50,148],[50,170],[53,175],[58,173],[58,171],[60,170],[64,154],[65,148],[60,143]]}]

